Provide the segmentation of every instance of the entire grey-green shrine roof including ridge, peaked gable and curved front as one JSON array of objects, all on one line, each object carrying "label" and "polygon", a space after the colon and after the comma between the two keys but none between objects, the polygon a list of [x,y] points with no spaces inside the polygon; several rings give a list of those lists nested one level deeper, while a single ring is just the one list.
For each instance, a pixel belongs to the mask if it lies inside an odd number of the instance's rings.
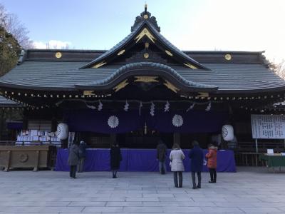
[{"label": "entire grey-green shrine roof including ridge, peaked gable and curved front", "polygon": [[[145,15],[147,19],[144,18]],[[180,61],[172,60],[165,63],[143,61],[143,59],[115,61],[114,58],[118,57],[120,51],[125,49],[127,52],[128,47],[135,46],[136,41],[145,36],[141,34],[145,28],[155,38],[155,44],[160,43],[160,50],[163,47],[163,50],[170,51]],[[146,39],[150,39],[151,42],[153,38],[150,36]],[[60,57],[57,57],[57,54],[60,54]],[[168,56],[165,54],[165,57]],[[96,63],[103,61],[108,63],[92,68]],[[185,62],[197,66],[197,69],[190,69],[184,65]],[[0,89],[41,92],[111,91],[122,78],[146,74],[162,76],[168,81],[171,79],[172,84],[177,83],[176,86],[181,86],[187,92],[209,91],[232,94],[285,91],[285,81],[269,70],[262,52],[180,51],[160,34],[160,27],[157,26],[155,17],[147,11],[137,17],[131,34],[109,51],[36,49],[25,51],[19,65],[0,78]]]}]

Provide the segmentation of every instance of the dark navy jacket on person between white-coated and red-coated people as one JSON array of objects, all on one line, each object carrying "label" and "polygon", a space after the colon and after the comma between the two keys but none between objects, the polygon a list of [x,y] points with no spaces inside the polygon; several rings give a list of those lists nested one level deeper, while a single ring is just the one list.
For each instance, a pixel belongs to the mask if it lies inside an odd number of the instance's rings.
[{"label": "dark navy jacket on person between white-coated and red-coated people", "polygon": [[191,159],[191,172],[202,172],[204,161],[202,148],[194,146],[189,153],[189,158]]}]

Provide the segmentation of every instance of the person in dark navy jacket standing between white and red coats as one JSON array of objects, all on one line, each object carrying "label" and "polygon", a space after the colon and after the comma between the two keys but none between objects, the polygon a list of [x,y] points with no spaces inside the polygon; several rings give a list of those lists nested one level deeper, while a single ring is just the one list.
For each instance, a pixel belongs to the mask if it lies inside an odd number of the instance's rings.
[{"label": "person in dark navy jacket standing between white and red coats", "polygon": [[[189,153],[189,158],[191,159],[191,177],[193,189],[201,188],[201,172],[203,169],[204,153],[202,148],[199,147],[198,141],[192,142],[193,148]],[[198,185],[196,185],[195,173],[198,177]]]}]

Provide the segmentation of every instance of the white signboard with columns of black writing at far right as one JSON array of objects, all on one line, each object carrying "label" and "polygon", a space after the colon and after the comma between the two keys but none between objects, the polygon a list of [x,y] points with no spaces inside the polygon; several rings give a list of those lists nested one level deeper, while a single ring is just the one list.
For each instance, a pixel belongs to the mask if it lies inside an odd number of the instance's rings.
[{"label": "white signboard with columns of black writing at far right", "polygon": [[285,139],[285,116],[252,114],[252,138]]}]

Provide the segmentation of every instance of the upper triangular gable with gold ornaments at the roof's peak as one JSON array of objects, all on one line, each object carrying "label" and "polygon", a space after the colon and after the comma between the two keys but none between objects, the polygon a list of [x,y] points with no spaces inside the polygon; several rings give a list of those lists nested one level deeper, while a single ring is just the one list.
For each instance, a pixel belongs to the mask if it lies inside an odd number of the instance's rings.
[{"label": "upper triangular gable with gold ornaments at the roof's peak", "polygon": [[[138,17],[140,16],[140,21],[137,21]],[[158,42],[160,46],[164,47],[164,50],[161,50],[164,54],[166,53],[169,56],[173,56],[173,58],[180,58],[181,66],[188,66],[192,69],[198,68],[209,70],[209,68],[195,61],[183,51],[177,49],[177,47],[171,44],[170,41],[165,39],[165,37],[159,32],[160,28],[157,26],[156,19],[153,19],[154,17],[151,17],[148,11],[142,12],[140,16],[137,17],[137,22],[135,22],[135,25],[132,27],[132,32],[126,36],[125,39],[113,46],[113,48],[109,51],[106,51],[104,54],[98,56],[98,58],[95,58],[93,61],[87,63],[81,68],[104,66],[105,64],[110,63],[110,60],[113,60],[113,58],[125,54],[124,52],[127,49],[130,49],[130,46],[135,46],[137,42],[142,39],[142,37],[147,36],[148,39],[152,41],[152,45],[157,45],[156,43]]]}]

